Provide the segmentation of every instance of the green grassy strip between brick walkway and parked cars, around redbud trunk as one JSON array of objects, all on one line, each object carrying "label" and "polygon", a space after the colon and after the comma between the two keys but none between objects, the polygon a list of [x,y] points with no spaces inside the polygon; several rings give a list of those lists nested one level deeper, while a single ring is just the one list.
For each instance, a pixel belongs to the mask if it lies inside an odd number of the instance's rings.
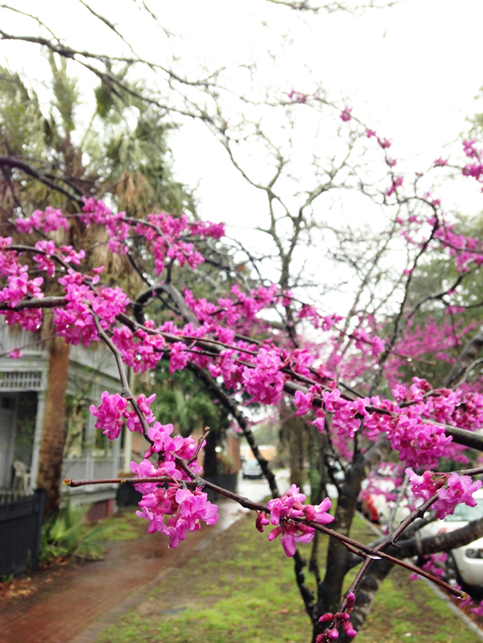
[{"label": "green grassy strip between brick walkway and parked cars, around redbud trunk", "polygon": [[[293,562],[279,542],[268,543],[266,536],[253,528],[253,516],[242,518],[184,569],[173,571],[137,609],[104,630],[97,643],[310,641]],[[353,537],[368,542],[373,534],[356,520]],[[324,547],[326,543],[321,555]],[[422,582],[410,582],[406,572],[395,569],[356,640],[474,643],[475,635]]]}]

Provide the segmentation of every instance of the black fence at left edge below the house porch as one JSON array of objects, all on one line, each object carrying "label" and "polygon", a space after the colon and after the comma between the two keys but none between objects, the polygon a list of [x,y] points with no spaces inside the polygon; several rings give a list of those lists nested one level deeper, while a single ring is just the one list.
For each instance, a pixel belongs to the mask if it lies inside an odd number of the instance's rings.
[{"label": "black fence at left edge below the house porch", "polygon": [[0,491],[0,578],[37,569],[44,496]]}]

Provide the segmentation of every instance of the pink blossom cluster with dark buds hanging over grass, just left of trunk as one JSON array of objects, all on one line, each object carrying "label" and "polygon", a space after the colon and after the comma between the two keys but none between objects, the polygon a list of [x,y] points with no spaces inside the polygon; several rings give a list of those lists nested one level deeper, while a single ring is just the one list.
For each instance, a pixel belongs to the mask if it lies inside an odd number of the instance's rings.
[{"label": "pink blossom cluster with dark buds hanging over grass, just left of trunk", "polygon": [[268,502],[270,519],[266,513],[261,512],[255,521],[258,531],[264,531],[264,526],[267,524],[276,525],[275,529],[270,531],[268,540],[273,540],[282,533],[282,547],[289,557],[295,554],[297,542],[312,542],[315,533],[313,527],[295,522],[293,518],[306,518],[320,524],[328,524],[334,520],[334,517],[327,513],[332,504],[329,498],[325,498],[317,505],[303,504],[305,500],[306,496],[293,484],[283,496]]}]

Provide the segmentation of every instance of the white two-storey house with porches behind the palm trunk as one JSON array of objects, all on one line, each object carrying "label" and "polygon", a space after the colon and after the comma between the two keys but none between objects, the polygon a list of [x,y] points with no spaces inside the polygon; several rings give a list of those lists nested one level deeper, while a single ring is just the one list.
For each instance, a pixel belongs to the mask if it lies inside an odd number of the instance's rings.
[{"label": "white two-storey house with porches behind the palm trunk", "polygon": [[[21,349],[18,359],[7,355],[14,348]],[[0,355],[0,490],[28,491],[35,487],[39,467],[48,354],[40,334],[1,323]],[[115,393],[120,389],[115,360],[106,347],[70,347],[69,432],[63,478],[116,478],[119,470],[126,470],[119,440],[110,443],[97,431],[95,418],[88,412],[91,403],[99,403],[102,391]],[[130,459],[130,453],[126,456]],[[62,487],[63,495],[70,493],[74,504],[97,503],[99,517],[103,510],[112,511],[115,485]]]}]

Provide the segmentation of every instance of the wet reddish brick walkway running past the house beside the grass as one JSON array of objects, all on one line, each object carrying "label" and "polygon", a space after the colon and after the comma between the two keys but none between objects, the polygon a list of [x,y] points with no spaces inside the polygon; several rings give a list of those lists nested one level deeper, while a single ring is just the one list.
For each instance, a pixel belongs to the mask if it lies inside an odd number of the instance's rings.
[{"label": "wet reddish brick walkway running past the house beside the grass", "polygon": [[[283,491],[288,480],[277,475]],[[239,480],[238,493],[259,502],[269,494],[266,480]],[[33,595],[0,602],[1,643],[94,643],[99,633],[184,567],[248,510],[231,500],[217,502],[217,524],[202,524],[177,549],[166,536],[145,533],[112,543],[104,560],[72,563]],[[132,508],[135,511],[135,507]]]}]

